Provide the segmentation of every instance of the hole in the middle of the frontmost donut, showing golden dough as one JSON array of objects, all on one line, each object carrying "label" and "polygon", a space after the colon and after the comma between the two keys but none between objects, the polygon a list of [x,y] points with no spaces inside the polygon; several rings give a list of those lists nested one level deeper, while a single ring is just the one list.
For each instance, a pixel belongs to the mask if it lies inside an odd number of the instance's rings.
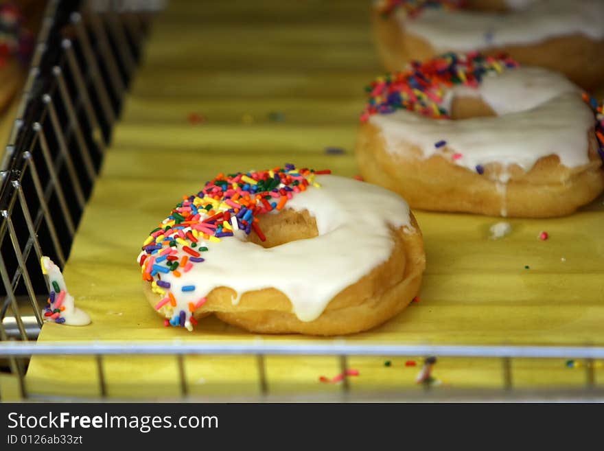
[{"label": "hole in the middle of the frontmost donut, showing golden dough", "polygon": [[318,235],[316,220],[306,210],[285,209],[279,211],[279,213],[260,215],[258,226],[264,233],[266,241],[260,240],[259,236],[253,231],[248,235],[248,241],[264,248],[315,238]]}]

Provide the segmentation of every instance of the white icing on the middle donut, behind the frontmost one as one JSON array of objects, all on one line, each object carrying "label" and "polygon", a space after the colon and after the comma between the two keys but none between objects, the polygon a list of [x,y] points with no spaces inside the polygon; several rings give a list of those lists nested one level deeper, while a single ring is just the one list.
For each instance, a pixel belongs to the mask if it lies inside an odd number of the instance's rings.
[{"label": "white icing on the middle donut, behind the frontmost one", "polygon": [[[476,165],[502,163],[525,171],[538,159],[555,154],[566,167],[589,163],[588,130],[594,115],[579,89],[564,76],[546,69],[520,67],[487,77],[477,89],[461,86],[454,95],[480,95],[498,117],[432,119],[407,110],[372,115],[371,124],[382,130],[386,150],[405,152],[417,146],[423,157],[442,154],[434,143],[446,141],[446,150],[462,156],[452,163],[476,170]],[[503,172],[498,182],[507,183]]]}]

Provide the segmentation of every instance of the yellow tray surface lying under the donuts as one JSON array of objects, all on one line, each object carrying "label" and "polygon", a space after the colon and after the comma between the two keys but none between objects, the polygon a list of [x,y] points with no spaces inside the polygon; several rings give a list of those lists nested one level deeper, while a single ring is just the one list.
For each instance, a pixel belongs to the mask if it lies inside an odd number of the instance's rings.
[{"label": "yellow tray surface lying under the donuts", "polygon": [[[218,172],[286,162],[358,172],[353,157],[363,86],[381,72],[371,43],[369,3],[171,1],[158,17],[146,63],[115,130],[102,176],[73,242],[65,278],[88,327],[46,324],[40,342],[71,340],[254,340],[209,318],[193,333],[163,327],[141,291],[141,240],[183,194]],[[335,3],[335,4],[334,4]],[[188,117],[205,117],[191,124]],[[283,113],[281,122],[270,113]],[[274,116],[274,115],[273,115]],[[328,146],[345,149],[329,155]],[[428,266],[421,301],[382,327],[345,338],[362,343],[604,345],[604,199],[568,218],[509,220],[511,235],[489,239],[498,218],[417,212]],[[547,231],[549,240],[537,235]],[[525,268],[529,266],[529,268]],[[304,336],[263,336],[287,343]],[[323,340],[325,341],[325,340]],[[351,358],[351,390],[414,387],[415,358]],[[391,366],[384,365],[391,360]],[[418,366],[406,366],[413,360]],[[110,396],[178,395],[176,359],[106,358]],[[258,393],[252,357],[187,357],[191,394]],[[580,386],[564,360],[515,360],[515,386]],[[320,375],[336,358],[266,359],[271,393],[332,393]],[[596,369],[602,381],[602,370]],[[494,359],[439,359],[446,387],[501,386]],[[596,379],[597,380],[597,379]],[[602,384],[602,382],[600,382]],[[32,393],[97,395],[92,358],[35,356]]]}]

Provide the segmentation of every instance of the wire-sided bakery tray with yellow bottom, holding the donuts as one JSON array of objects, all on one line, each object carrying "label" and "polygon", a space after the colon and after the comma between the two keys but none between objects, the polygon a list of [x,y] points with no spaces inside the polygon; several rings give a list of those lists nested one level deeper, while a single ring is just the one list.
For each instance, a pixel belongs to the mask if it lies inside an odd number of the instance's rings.
[{"label": "wire-sided bakery tray with yellow bottom, holding the donuts", "polygon": [[[369,2],[261,3],[47,2],[0,173],[0,400],[601,400],[602,196],[550,219],[414,210],[419,295],[367,332],[165,327],[137,255],[179,196],[360,172]],[[89,325],[45,321],[43,256]]]}]

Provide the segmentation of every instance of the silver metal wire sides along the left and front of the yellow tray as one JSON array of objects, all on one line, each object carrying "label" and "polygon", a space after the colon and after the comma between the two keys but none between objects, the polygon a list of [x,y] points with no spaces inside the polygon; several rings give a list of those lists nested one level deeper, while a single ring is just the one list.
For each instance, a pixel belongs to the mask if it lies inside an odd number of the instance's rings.
[{"label": "silver metal wire sides along the left and front of the yellow tray", "polygon": [[[142,8],[142,9],[141,9]],[[569,358],[585,361],[585,383],[573,391],[554,391],[556,399],[598,399],[594,360],[604,347],[509,347],[355,345],[346,342],[287,345],[270,343],[36,343],[43,326],[40,303],[47,297],[39,261],[49,255],[63,268],[86,200],[95,183],[111,130],[142,57],[150,20],[159,2],[49,0],[14,128],[0,172],[0,370],[19,381],[23,399],[39,399],[27,390],[25,372],[32,355],[94,356],[98,396],[107,396],[105,356],[170,355],[176,359],[181,396],[189,398],[185,358],[193,355],[255,356],[260,399],[270,397],[265,356],[333,356],[344,375],[345,399],[413,400],[410,393],[373,393],[349,397],[350,356],[454,356],[499,358],[501,390],[513,391],[515,358]],[[27,313],[31,312],[31,313]],[[4,359],[4,360],[3,360]],[[425,392],[423,398],[426,399]],[[551,394],[551,393],[550,393]],[[475,391],[474,399],[493,393]],[[533,393],[534,395],[534,393]],[[490,397],[489,397],[490,396]],[[468,398],[467,393],[463,395]],[[319,400],[341,400],[321,397]],[[434,398],[432,398],[434,399]],[[452,399],[451,393],[448,399]],[[233,398],[234,400],[234,398]],[[290,398],[290,400],[295,400]],[[312,400],[305,397],[304,400]]]}]

